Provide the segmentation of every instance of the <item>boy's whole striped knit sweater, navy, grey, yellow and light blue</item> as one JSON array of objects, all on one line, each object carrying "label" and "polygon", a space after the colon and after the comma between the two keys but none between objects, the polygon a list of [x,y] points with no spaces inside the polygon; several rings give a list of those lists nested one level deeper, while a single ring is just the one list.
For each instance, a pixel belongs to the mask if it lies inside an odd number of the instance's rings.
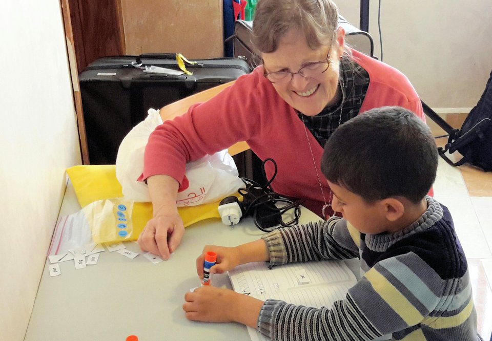
[{"label": "boy's whole striped knit sweater, navy, grey, yellow and light blue", "polygon": [[267,300],[258,330],[275,340],[477,340],[468,267],[448,209],[428,209],[393,234],[364,235],[344,219],[263,236],[271,265],[360,258],[362,278],[345,300],[315,309]]}]

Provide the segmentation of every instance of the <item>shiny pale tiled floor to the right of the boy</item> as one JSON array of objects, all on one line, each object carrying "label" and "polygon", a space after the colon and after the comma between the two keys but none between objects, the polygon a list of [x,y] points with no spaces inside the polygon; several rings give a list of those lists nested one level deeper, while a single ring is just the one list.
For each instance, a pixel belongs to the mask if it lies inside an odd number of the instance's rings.
[{"label": "shiny pale tiled floor to the right of the boy", "polygon": [[[459,128],[464,114],[446,115]],[[445,134],[427,118],[434,136]],[[436,140],[443,146],[447,138]],[[458,153],[453,158],[459,159]],[[485,340],[492,333],[492,172],[484,173],[468,165],[453,167],[439,160],[434,197],[446,205],[455,222],[458,238],[468,259],[478,313],[478,331]]]}]

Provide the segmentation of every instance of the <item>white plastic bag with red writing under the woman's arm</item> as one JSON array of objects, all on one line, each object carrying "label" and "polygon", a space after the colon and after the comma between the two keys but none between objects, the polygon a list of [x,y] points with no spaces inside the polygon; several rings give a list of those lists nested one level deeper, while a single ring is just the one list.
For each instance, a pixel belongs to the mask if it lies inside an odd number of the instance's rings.
[{"label": "white plastic bag with red writing under the woman's arm", "polygon": [[[137,178],[144,169],[144,150],[150,133],[162,124],[159,111],[150,109],[147,118],[125,136],[116,157],[116,178],[127,200],[151,201],[149,188]],[[189,162],[177,196],[177,206],[195,206],[234,194],[244,184],[227,150]]]}]

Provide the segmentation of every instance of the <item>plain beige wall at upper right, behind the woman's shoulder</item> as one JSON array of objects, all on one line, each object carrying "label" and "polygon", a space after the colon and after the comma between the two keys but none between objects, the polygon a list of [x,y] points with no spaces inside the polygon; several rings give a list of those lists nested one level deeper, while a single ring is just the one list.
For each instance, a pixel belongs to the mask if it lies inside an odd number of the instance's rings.
[{"label": "plain beige wall at upper right, behind the woman's shoulder", "polygon": [[[359,26],[359,0],[335,0]],[[380,55],[378,0],[369,33]],[[492,70],[492,1],[381,0],[383,61],[402,71],[424,102],[440,113],[469,112]]]}]

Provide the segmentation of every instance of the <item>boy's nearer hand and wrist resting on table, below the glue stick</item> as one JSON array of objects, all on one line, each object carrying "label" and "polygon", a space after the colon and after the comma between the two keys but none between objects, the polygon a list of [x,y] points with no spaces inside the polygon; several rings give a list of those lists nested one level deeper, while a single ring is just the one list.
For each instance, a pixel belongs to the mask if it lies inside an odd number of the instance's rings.
[{"label": "boy's nearer hand and wrist resting on table, below the glue stick", "polygon": [[196,288],[185,294],[185,316],[202,322],[239,322],[257,327],[263,301],[229,289],[213,286]]}]

